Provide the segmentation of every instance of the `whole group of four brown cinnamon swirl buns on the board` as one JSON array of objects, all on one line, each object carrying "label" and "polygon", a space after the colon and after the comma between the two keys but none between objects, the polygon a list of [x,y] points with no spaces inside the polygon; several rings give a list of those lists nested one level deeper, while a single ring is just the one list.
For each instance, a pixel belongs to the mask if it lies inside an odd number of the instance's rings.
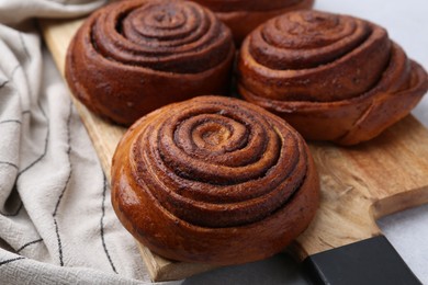
[{"label": "whole group of four brown cinnamon swirl buns on the board", "polygon": [[140,243],[187,262],[264,259],[319,205],[304,139],[374,138],[418,103],[428,76],[385,29],[300,10],[313,0],[195,2],[100,9],[69,46],[66,78],[90,111],[131,126],[112,204]]}]

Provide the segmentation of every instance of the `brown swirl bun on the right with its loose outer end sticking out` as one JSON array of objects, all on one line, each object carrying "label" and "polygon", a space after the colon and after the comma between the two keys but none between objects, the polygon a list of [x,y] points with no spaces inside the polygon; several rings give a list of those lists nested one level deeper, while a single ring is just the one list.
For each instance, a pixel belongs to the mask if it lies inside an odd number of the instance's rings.
[{"label": "brown swirl bun on the right with its loose outer end sticking out", "polygon": [[378,136],[418,103],[426,71],[387,32],[317,11],[268,21],[243,44],[238,90],[305,138],[354,145]]}]

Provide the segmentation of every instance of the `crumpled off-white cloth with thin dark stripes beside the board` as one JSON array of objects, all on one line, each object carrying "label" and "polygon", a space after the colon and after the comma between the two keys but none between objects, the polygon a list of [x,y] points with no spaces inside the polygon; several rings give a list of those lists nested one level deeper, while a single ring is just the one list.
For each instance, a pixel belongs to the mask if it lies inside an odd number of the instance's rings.
[{"label": "crumpled off-white cloth with thin dark stripes beside the board", "polygon": [[102,4],[74,2],[0,1],[1,284],[149,282],[68,90],[29,20]]}]

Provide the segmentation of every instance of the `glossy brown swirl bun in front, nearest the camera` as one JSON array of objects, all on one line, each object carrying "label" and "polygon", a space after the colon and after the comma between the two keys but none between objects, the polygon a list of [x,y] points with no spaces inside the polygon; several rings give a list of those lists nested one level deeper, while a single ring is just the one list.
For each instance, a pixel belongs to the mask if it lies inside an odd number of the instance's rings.
[{"label": "glossy brown swirl bun in front, nearest the camera", "polygon": [[309,224],[317,172],[302,137],[241,100],[200,96],[137,121],[112,163],[112,204],[159,255],[218,265],[283,250]]}]

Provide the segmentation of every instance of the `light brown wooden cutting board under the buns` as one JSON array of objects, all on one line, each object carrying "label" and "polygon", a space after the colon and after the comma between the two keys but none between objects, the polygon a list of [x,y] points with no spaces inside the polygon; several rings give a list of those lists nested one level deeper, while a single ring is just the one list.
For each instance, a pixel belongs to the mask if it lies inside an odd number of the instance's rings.
[{"label": "light brown wooden cutting board under the buns", "polygon": [[[64,75],[65,56],[77,21],[41,23],[46,44]],[[110,180],[111,159],[125,129],[76,107]],[[413,116],[358,147],[309,144],[322,183],[322,204],[309,228],[289,250],[300,259],[380,235],[375,220],[428,203],[428,130]],[[207,264],[172,262],[139,246],[154,281],[180,280]]]}]

